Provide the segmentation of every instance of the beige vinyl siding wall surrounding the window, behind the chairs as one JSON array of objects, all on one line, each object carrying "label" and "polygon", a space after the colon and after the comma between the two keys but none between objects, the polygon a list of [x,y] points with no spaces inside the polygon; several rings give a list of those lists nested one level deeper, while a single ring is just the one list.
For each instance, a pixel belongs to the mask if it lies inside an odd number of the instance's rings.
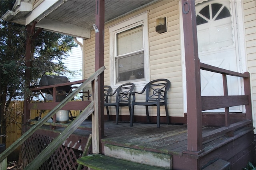
[{"label": "beige vinyl siding wall surrounding the window, behind the chairs", "polygon": [[[110,84],[109,72],[109,30],[108,27],[120,23],[124,20],[132,18],[138,14],[148,11],[148,35],[149,35],[149,57],[150,59],[150,80],[158,78],[166,78],[171,82],[171,88],[168,92],[168,110],[170,116],[184,116],[183,111],[183,94],[182,94],[182,65],[181,65],[181,49],[180,49],[180,20],[178,1],[160,1],[152,4],[144,9],[135,11],[123,18],[118,18],[105,25],[104,40],[104,84]],[[155,31],[156,19],[166,17],[168,32],[158,34]],[[88,78],[94,72],[94,43],[95,32],[92,31],[91,39],[85,41],[85,78]],[[140,91],[144,87],[136,85],[135,90]],[[113,89],[114,91],[115,89]],[[113,97],[112,100],[115,100]],[[144,96],[136,97],[136,100],[144,101]],[[164,107],[160,107],[161,116],[165,116]],[[106,112],[105,112],[106,113]],[[146,115],[145,107],[136,106],[135,115]],[[110,114],[116,115],[115,107],[110,107]],[[120,108],[120,115],[129,115],[126,107]],[[150,115],[156,116],[156,108],[150,107]]]}]

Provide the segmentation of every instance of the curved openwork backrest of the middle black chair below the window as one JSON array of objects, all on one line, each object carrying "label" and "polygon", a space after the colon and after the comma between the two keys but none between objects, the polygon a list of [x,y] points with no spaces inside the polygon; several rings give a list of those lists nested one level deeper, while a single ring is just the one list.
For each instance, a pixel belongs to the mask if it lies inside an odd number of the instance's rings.
[{"label": "curved openwork backrest of the middle black chair below the window", "polygon": [[119,86],[113,93],[116,93],[116,102],[128,103],[129,95],[134,90],[134,87],[133,83],[125,83]]}]

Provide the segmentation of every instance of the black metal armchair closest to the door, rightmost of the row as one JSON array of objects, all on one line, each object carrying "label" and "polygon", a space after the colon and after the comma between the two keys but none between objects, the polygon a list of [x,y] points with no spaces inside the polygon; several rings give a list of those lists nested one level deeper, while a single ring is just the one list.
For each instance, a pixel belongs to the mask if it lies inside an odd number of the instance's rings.
[{"label": "black metal armchair closest to the door, rightmost of the row", "polygon": [[[169,113],[167,108],[167,91],[169,90],[171,83],[167,79],[157,79],[152,80],[143,88],[141,92],[132,92],[132,110],[130,116],[130,126],[133,126],[133,115],[134,115],[134,106],[146,106],[146,115],[149,123],[149,113],[148,106],[157,107],[157,127],[160,127],[160,106],[165,107],[167,123],[170,123]],[[146,101],[145,102],[136,102],[135,94],[143,94],[146,91]]]}]

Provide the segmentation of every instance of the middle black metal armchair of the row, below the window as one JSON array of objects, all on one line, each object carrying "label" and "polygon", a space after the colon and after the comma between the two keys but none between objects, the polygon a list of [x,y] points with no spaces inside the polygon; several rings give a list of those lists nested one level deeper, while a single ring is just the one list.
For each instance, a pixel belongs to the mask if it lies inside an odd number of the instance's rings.
[{"label": "middle black metal armchair of the row, below the window", "polygon": [[116,101],[113,103],[104,103],[104,106],[116,106],[116,125],[118,125],[119,107],[128,106],[131,113],[130,105],[130,93],[134,90],[135,85],[133,83],[125,83],[119,86],[112,94],[106,97],[116,94]]}]

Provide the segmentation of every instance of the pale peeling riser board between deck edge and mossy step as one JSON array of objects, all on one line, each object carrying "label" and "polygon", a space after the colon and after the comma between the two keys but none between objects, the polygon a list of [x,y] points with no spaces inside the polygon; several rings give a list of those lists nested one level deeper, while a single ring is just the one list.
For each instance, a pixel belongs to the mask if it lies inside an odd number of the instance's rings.
[{"label": "pale peeling riser board between deck edge and mossy step", "polygon": [[147,150],[131,149],[115,145],[104,145],[104,154],[117,159],[157,166],[165,169],[172,169],[172,155],[150,152]]}]

